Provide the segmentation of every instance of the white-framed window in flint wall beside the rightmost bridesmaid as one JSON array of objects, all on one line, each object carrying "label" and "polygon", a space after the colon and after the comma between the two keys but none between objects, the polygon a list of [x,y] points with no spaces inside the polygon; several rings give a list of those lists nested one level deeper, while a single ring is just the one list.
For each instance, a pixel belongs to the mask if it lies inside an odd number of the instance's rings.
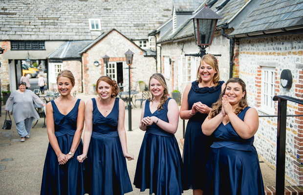
[{"label": "white-framed window in flint wall beside the rightmost bridesmaid", "polygon": [[276,68],[262,66],[261,75],[261,109],[267,113],[275,112]]}]

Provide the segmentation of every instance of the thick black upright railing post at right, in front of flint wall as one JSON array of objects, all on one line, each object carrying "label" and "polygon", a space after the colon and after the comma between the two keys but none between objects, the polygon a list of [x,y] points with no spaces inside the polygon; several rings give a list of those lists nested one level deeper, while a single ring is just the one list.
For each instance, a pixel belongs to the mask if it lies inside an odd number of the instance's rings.
[{"label": "thick black upright railing post at right, in front of flint wall", "polygon": [[278,99],[276,195],[284,195],[287,100]]}]

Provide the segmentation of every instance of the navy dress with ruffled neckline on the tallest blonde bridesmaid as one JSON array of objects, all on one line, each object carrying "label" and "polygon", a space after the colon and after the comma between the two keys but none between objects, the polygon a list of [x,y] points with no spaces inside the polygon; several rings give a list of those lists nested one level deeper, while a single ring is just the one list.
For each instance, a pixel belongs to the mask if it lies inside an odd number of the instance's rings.
[{"label": "navy dress with ruffled neckline on the tallest blonde bridesmaid", "polygon": [[[219,81],[218,86],[199,87],[198,82],[192,83],[191,90],[188,93],[188,106],[192,109],[196,102],[201,102],[212,107],[219,95],[224,81]],[[208,114],[197,112],[187,123],[184,148],[183,148],[183,189],[203,190],[203,175],[205,166],[211,151],[214,136],[206,136],[201,130],[201,125]]]}]

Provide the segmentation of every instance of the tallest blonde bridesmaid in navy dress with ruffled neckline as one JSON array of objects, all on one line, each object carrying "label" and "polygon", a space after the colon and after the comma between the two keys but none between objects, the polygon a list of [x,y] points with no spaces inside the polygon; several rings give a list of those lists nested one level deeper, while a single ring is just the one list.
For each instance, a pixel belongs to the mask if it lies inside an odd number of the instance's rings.
[{"label": "tallest blonde bridesmaid in navy dress with ruffled neckline", "polygon": [[202,178],[214,137],[205,136],[200,128],[225,86],[219,81],[219,67],[214,55],[202,57],[197,78],[186,86],[180,108],[180,118],[189,119],[184,138],[182,182],[183,190],[192,189],[194,195],[202,195]]}]

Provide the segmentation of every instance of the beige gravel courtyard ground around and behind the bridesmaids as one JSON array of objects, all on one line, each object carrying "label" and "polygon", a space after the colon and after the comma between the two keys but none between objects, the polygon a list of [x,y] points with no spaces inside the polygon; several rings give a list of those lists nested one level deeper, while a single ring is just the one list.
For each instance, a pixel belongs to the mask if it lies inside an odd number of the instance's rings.
[{"label": "beige gravel courtyard ground around and behind the bridesmaids", "polygon": [[[77,94],[77,98],[85,102],[95,96]],[[137,106],[139,104],[137,103]],[[3,126],[5,111],[2,106],[0,126]],[[144,131],[138,128],[141,109],[134,108],[132,114],[132,131],[128,131],[128,111],[126,110],[125,129],[127,134],[128,151],[134,154],[135,160],[127,161],[130,180],[133,182],[138,154],[140,151]],[[31,130],[31,137],[25,142],[20,142],[20,136],[16,130],[13,120],[11,130],[0,129],[0,195],[39,195],[41,188],[43,165],[48,146],[46,129],[43,128],[43,119],[39,120],[36,127]],[[34,122],[35,123],[35,122]],[[179,127],[175,134],[176,139],[183,137],[182,120],[179,120]],[[10,159],[12,158],[12,159]],[[264,186],[275,186],[276,172],[266,163],[260,163]],[[285,185],[289,186],[288,182]],[[148,195],[149,190],[140,192],[133,186],[133,192],[128,195]],[[192,195],[192,190],[184,191],[184,195]]]}]

